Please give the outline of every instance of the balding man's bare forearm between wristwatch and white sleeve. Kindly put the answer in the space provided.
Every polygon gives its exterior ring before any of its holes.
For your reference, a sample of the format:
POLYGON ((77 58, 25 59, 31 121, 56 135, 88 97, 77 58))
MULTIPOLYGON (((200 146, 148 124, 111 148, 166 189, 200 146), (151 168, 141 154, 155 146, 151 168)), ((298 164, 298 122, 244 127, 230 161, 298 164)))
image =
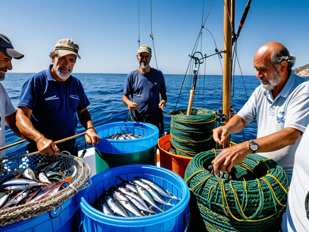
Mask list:
MULTIPOLYGON (((267 135, 265 137, 254 139, 252 141, 258 144, 259 146, 259 149, 257 150, 258 153, 273 152, 280 150, 281 148, 285 148, 286 146, 295 144, 300 133, 301 133, 300 131, 294 128, 287 127, 284 130, 267 135)), ((245 143, 248 144, 249 148, 249 142, 246 141, 245 143)))

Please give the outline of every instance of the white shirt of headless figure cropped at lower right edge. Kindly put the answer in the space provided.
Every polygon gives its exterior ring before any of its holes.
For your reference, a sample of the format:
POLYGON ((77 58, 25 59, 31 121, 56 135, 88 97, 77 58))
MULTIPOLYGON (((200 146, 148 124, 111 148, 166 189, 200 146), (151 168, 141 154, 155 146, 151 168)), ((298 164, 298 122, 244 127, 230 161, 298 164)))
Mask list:
POLYGON ((307 127, 295 153, 288 203, 282 220, 286 232, 309 231, 309 219, 305 210, 305 198, 309 191, 308 142, 309 128, 307 127))

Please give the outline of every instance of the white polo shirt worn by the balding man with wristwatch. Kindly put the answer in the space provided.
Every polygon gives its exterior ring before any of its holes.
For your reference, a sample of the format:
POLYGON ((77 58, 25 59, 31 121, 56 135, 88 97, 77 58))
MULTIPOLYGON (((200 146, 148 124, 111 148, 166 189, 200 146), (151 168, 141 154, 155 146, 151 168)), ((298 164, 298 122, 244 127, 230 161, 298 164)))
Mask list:
MULTIPOLYGON (((257 138, 281 131, 286 127, 304 132, 309 124, 309 79, 295 75, 291 71, 286 85, 275 99, 270 90, 260 85, 237 115, 247 122, 256 119, 257 138)), ((293 170, 294 154, 301 138, 302 136, 299 136, 294 145, 258 154, 277 161, 284 170, 293 170)))

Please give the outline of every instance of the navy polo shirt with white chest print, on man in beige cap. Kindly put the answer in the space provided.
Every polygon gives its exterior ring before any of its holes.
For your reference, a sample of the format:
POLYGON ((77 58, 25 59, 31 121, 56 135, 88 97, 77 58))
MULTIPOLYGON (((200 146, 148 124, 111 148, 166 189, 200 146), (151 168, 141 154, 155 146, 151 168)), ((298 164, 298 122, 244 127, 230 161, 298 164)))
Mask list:
MULTIPOLYGON (((53 79, 48 69, 31 75, 23 84, 18 106, 32 110, 30 121, 45 138, 61 140, 77 132, 77 110, 90 102, 82 83, 76 77, 63 82, 53 79)), ((73 152, 76 139, 57 144, 60 151, 73 152)))

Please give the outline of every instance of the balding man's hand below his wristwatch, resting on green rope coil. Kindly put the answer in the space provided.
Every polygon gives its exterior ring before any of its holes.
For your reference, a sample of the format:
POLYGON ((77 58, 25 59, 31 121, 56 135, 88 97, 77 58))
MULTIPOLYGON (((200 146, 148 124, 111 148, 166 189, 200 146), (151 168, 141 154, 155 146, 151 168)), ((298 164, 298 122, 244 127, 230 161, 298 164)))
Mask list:
POLYGON ((239 162, 243 161, 248 154, 251 153, 249 149, 249 142, 246 141, 241 144, 222 149, 221 153, 214 159, 214 174, 218 177, 218 172, 231 172, 231 168, 239 162))

